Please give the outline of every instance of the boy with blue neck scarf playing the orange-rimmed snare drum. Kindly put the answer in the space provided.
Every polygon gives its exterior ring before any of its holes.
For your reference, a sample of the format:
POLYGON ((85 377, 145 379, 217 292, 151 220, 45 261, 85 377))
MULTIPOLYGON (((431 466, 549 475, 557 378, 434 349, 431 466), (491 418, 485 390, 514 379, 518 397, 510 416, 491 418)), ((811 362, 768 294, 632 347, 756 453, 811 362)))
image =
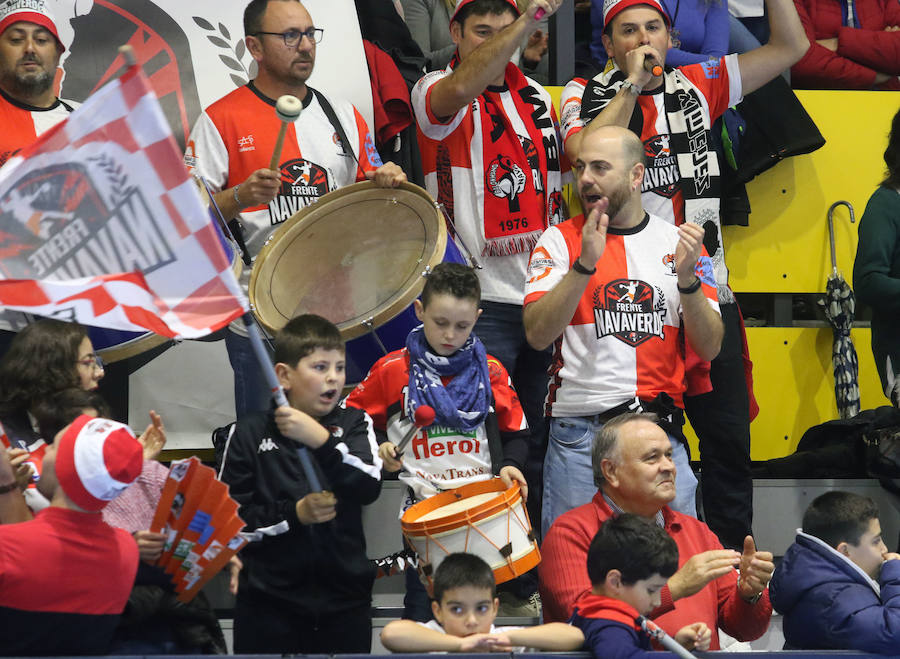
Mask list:
MULTIPOLYGON (((528 494, 522 468, 528 423, 503 365, 472 333, 481 315, 481 286, 472 268, 441 263, 415 301, 422 325, 406 347, 375 362, 347 404, 369 413, 380 442, 378 455, 407 486, 401 514, 428 497, 499 476, 528 494), (397 454, 420 405, 434 408, 434 423, 419 430, 397 454)), ((407 575, 404 618, 431 617, 415 571, 407 575)))

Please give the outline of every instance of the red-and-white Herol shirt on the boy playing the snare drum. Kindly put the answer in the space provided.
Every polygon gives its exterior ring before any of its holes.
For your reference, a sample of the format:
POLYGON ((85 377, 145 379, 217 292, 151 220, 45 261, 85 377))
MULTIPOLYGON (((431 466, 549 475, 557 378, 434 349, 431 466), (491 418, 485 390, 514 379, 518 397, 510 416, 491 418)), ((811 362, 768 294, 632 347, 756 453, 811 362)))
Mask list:
MULTIPOLYGON (((496 415, 501 435, 527 433, 528 423, 509 374, 494 357, 488 355, 487 362, 493 395, 490 413, 496 415)), ((444 384, 450 379, 445 378, 444 384)), ((396 445, 412 427, 403 413, 408 389, 409 353, 402 348, 375 362, 366 379, 350 393, 347 404, 368 412, 375 428, 396 445)), ((403 464, 400 481, 413 494, 404 510, 438 492, 492 478, 485 424, 468 432, 444 426, 424 428, 406 445, 403 464)))

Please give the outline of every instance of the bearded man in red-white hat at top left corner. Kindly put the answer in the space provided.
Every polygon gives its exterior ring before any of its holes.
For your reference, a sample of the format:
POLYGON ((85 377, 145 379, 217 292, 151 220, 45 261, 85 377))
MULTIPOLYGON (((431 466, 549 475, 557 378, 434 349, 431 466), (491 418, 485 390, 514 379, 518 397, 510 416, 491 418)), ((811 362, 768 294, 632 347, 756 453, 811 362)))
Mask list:
POLYGON ((46 0, 0 3, 0 165, 77 107, 54 90, 65 50, 46 0))

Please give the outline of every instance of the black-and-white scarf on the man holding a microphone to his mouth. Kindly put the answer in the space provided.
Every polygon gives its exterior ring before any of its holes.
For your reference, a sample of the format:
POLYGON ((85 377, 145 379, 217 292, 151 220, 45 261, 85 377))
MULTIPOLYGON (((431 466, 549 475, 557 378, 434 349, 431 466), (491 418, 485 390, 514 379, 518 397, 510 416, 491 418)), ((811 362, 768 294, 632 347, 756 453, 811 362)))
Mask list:
MULTIPOLYGON (((719 158, 710 141, 709 112, 704 109, 697 90, 680 71, 667 70, 664 80, 663 107, 669 123, 669 146, 677 159, 681 177, 678 185, 684 199, 684 221, 704 229, 707 223, 712 223, 719 244, 707 251, 713 262, 719 302, 734 302, 734 294, 728 288, 728 269, 722 248, 719 158)), ((595 117, 613 99, 623 82, 625 73, 615 65, 590 80, 581 101, 582 118, 595 117)), ((635 104, 629 128, 640 135, 642 124, 643 113, 635 104)))

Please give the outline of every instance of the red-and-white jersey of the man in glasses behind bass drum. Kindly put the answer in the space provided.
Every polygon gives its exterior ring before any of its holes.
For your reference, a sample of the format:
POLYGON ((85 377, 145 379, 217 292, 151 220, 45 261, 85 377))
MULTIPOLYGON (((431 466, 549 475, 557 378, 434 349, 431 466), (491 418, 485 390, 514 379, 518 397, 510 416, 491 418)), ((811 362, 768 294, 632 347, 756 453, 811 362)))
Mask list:
MULTIPOLYGON (((326 193, 365 180, 356 161, 345 155, 341 141, 312 90, 301 99, 303 111, 288 124, 281 152, 281 191, 266 206, 240 213, 244 239, 255 258, 277 225, 326 193)), ((364 171, 379 167, 381 159, 362 115, 346 101, 328 99, 364 171)), ((210 105, 197 119, 185 150, 185 164, 203 176, 214 192, 242 183, 257 169, 268 167, 281 120, 275 100, 253 83, 238 87, 210 105)), ((241 283, 246 290, 250 269, 241 283)), ((232 325, 235 327, 235 325, 232 325)))

